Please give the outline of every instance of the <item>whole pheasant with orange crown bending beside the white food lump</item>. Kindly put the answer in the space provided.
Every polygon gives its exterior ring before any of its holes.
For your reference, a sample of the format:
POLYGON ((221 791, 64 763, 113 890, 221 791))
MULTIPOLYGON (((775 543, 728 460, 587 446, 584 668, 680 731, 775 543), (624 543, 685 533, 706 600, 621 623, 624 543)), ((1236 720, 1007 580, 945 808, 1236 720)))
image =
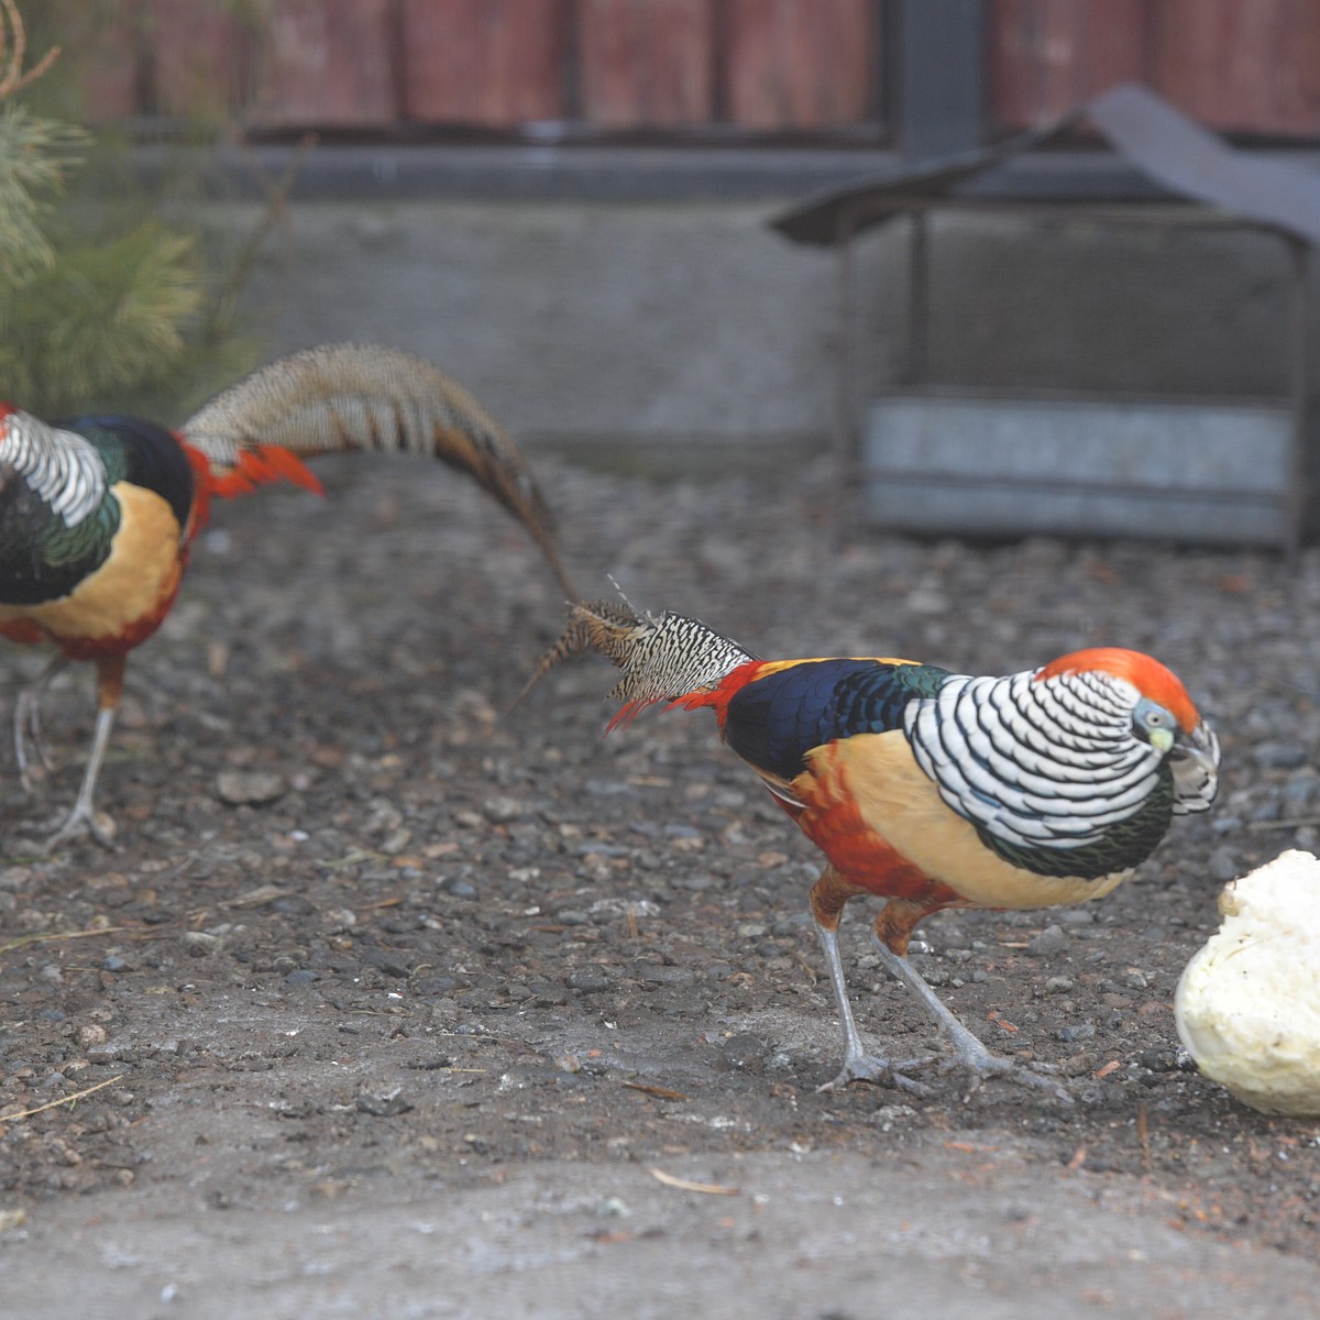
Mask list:
POLYGON ((610 729, 652 702, 709 708, 723 741, 825 854, 810 912, 854 1080, 916 1093, 925 1060, 869 1055, 849 1005, 838 925, 850 898, 886 899, 884 968, 977 1078, 1008 1076, 1068 1100, 1051 1078, 993 1053, 908 961, 917 924, 944 908, 1038 908, 1102 898, 1173 816, 1203 812, 1218 742, 1158 660, 1100 647, 1039 669, 972 677, 911 660, 760 660, 696 619, 627 602, 572 607, 528 686, 597 649, 623 671, 610 729))

